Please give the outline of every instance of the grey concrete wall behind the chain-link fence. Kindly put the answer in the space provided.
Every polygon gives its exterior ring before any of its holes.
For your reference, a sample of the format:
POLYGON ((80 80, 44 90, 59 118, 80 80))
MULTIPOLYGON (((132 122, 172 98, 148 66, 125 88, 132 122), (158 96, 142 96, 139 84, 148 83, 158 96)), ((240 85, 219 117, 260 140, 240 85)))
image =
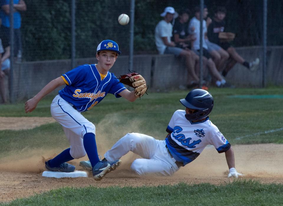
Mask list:
MULTIPOLYGON (((238 87, 262 86, 262 48, 236 48, 247 61, 260 58, 259 70, 250 72, 244 66, 236 66, 228 73, 226 80, 238 87)), ((283 86, 283 46, 268 47, 266 80, 268 85, 283 86)), ((76 65, 97 63, 96 58, 77 59, 76 65)), ((111 72, 117 77, 128 73, 128 56, 118 57, 111 72)), ((13 99, 33 97, 47 83, 71 69, 70 60, 35 61, 16 64, 13 72, 13 99)), ((189 83, 184 59, 173 55, 134 56, 134 71, 140 73, 149 84, 149 91, 169 91, 184 88, 189 83)), ((61 89, 61 88, 59 88, 61 89)), ((58 89, 58 90, 59 90, 58 89)), ((53 93, 57 93, 57 91, 53 93)))

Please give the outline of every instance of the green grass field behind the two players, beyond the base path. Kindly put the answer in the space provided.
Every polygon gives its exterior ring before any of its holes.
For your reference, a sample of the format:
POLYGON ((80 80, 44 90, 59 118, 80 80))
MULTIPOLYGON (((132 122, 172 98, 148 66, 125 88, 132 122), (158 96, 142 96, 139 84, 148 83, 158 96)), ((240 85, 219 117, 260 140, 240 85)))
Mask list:
MULTIPOLYGON (((232 95, 282 94, 282 88, 210 89, 215 105, 210 120, 219 128, 231 144, 283 143, 282 131, 265 133, 282 128, 283 99, 230 98, 232 95), (243 137, 249 135, 248 137, 243 137)), ((150 93, 134 103, 124 98, 108 95, 93 109, 83 115, 96 125, 97 136, 107 135, 108 143, 115 143, 127 132, 139 132, 164 139, 165 129, 175 110, 184 109, 179 99, 186 91, 150 93), (108 134, 108 131, 112 133, 108 134)), ((37 116, 51 117, 47 96, 32 113, 24 113, 24 102, 0 105, 3 117, 37 116)), ((23 122, 24 124, 24 122, 23 122)), ((12 131, 0 131, 0 158, 9 151, 29 148, 65 148, 68 142, 58 123, 12 131)), ((111 145, 109 145, 111 146, 111 145)))

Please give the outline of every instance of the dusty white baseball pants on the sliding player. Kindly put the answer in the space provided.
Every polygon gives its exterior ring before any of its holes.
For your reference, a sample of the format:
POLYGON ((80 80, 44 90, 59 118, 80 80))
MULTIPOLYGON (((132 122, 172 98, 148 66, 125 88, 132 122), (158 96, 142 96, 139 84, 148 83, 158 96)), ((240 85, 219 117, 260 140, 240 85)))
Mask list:
POLYGON ((114 161, 132 151, 143 158, 136 159, 131 164, 131 169, 136 174, 168 176, 174 174, 179 168, 175 163, 176 160, 171 158, 165 146, 165 140, 156 140, 151 136, 139 133, 128 133, 116 142, 104 154, 104 157, 108 161, 114 161))

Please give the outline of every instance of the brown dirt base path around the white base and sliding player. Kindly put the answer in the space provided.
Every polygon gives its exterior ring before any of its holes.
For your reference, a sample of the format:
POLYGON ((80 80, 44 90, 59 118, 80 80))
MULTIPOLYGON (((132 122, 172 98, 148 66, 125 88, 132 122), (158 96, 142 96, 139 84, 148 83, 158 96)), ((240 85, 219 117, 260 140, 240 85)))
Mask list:
MULTIPOLYGON (((233 149, 236 157, 236 169, 245 174, 244 178, 258 180, 262 183, 283 184, 283 145, 234 145, 233 149)), ((206 182, 218 185, 233 181, 233 179, 227 178, 228 168, 225 155, 223 153, 218 154, 213 147, 205 148, 195 161, 181 168, 171 177, 137 176, 130 171, 130 163, 137 156, 129 153, 122 158, 121 166, 108 173, 101 181, 95 181, 91 174, 88 178, 56 179, 42 177, 45 159, 41 155, 53 153, 51 151, 45 151, 45 153, 33 151, 33 153, 32 157, 24 160, 14 161, 15 158, 13 157, 1 160, 0 202, 8 202, 16 198, 28 197, 34 195, 34 193, 42 193, 65 186, 86 187, 93 185, 107 187, 117 185, 137 187, 142 185, 172 185, 179 182, 189 184, 206 182)), ((78 165, 80 160, 71 161, 78 170, 81 170, 78 165)))

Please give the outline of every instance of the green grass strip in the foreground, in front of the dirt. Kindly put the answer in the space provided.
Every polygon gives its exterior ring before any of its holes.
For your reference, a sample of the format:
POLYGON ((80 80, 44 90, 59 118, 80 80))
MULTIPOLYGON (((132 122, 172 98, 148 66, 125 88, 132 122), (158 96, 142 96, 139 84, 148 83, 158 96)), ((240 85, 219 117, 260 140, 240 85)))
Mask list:
POLYGON ((282 205, 283 185, 237 180, 157 187, 64 187, 0 205, 282 205))

